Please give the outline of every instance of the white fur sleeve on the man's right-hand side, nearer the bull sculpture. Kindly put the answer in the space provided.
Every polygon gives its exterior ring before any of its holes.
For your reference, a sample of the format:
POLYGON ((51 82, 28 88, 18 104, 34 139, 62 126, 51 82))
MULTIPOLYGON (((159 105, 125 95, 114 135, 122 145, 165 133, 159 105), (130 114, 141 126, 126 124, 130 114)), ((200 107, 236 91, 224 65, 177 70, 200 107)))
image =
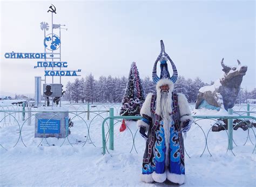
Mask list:
POLYGON ((178 105, 180 112, 180 122, 183 124, 184 121, 190 120, 193 121, 191 116, 190 106, 188 105, 187 98, 183 93, 178 93, 178 105))

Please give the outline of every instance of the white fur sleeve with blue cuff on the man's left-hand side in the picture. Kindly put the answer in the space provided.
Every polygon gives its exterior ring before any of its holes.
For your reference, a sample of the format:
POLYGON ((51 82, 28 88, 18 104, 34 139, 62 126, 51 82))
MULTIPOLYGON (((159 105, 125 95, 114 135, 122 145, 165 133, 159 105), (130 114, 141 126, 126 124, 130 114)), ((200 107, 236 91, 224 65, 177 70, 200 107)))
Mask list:
POLYGON ((142 109, 140 109, 140 116, 142 116, 142 119, 137 121, 137 126, 144 127, 146 132, 149 130, 149 126, 152 122, 152 117, 151 117, 152 95, 153 95, 153 93, 147 94, 145 102, 142 105, 142 109))

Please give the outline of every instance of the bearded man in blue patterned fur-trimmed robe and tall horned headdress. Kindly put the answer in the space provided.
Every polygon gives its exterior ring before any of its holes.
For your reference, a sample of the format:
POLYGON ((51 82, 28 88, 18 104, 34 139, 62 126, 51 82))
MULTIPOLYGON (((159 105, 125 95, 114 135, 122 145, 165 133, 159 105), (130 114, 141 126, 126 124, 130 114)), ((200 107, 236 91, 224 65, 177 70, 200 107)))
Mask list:
POLYGON ((166 179, 178 184, 185 182, 182 132, 190 130, 193 117, 185 95, 173 93, 177 77, 176 66, 165 53, 161 40, 161 52, 154 63, 152 73, 153 81, 157 84, 157 92, 147 95, 140 110, 143 118, 137 123, 140 134, 146 139, 140 176, 146 183, 163 183, 166 179), (172 77, 167 67, 168 60, 172 64, 172 77), (157 76, 158 61, 161 69, 160 78, 157 76))

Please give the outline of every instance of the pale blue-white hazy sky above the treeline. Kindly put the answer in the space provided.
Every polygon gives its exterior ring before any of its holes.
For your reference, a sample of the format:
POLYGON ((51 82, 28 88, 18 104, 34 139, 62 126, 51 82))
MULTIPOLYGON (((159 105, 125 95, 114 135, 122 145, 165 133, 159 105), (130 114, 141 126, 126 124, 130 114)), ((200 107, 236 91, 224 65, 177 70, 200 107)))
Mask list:
MULTIPOLYGON (((51 4, 53 23, 68 28, 61 33, 62 61, 84 77, 127 76, 133 61, 141 78, 151 77, 163 39, 179 75, 210 83, 222 75, 223 57, 229 66, 239 59, 248 66, 241 88, 255 88, 254 1, 1 1, 0 94, 32 96, 34 77, 44 78, 43 68, 33 69, 37 59, 4 54, 44 52, 40 23, 51 25, 51 4)), ((63 77, 62 83, 73 80, 63 77)))

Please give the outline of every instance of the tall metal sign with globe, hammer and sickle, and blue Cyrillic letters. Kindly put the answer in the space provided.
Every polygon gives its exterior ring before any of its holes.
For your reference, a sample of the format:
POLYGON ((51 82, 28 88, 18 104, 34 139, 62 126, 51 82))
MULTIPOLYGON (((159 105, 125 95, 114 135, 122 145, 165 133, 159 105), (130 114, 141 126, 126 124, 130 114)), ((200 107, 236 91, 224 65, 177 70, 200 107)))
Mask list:
MULTIPOLYGON (((51 4, 49 6, 49 10, 47 12, 51 12, 51 33, 46 35, 46 31, 49 30, 50 25, 45 21, 40 23, 40 28, 44 31, 44 52, 43 53, 15 53, 12 51, 11 53, 5 53, 4 56, 6 59, 44 59, 44 61, 38 61, 34 68, 44 68, 44 80, 39 78, 39 76, 35 77, 35 106, 41 102, 41 81, 44 81, 46 84, 46 77, 52 77, 53 88, 55 88, 53 78, 59 76, 59 84, 56 88, 60 87, 60 92, 58 94, 45 95, 45 104, 46 97, 52 97, 52 106, 53 106, 53 97, 62 97, 62 76, 80 76, 77 73, 81 72, 81 69, 78 70, 62 70, 62 68, 68 68, 68 62, 62 61, 61 58, 61 30, 68 30, 68 28, 64 28, 61 24, 53 24, 53 13, 57 14, 56 7, 51 4), (53 30, 58 29, 58 35, 53 33, 53 30), (47 68, 47 69, 46 69, 47 68), (58 68, 57 70, 54 68, 58 68), (40 99, 40 100, 39 100, 40 99)), ((45 89, 45 87, 44 87, 45 89)), ((45 90, 44 90, 45 91, 45 90)), ((61 100, 59 102, 59 106, 61 106, 61 100)))

